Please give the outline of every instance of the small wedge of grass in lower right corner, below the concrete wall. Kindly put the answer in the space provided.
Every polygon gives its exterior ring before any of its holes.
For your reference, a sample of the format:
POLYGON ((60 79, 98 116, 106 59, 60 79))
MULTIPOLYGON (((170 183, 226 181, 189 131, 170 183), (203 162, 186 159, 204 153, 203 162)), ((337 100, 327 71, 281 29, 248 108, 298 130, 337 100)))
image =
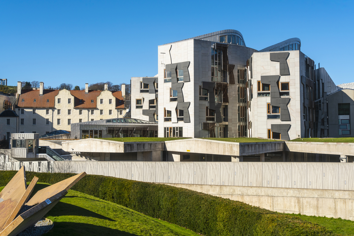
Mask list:
POLYGON ((310 221, 312 223, 317 223, 319 225, 325 226, 327 229, 333 230, 336 234, 354 236, 354 221, 343 220, 343 219, 334 219, 327 217, 317 217, 317 216, 307 216, 301 214, 289 214, 296 215, 303 220, 310 221))

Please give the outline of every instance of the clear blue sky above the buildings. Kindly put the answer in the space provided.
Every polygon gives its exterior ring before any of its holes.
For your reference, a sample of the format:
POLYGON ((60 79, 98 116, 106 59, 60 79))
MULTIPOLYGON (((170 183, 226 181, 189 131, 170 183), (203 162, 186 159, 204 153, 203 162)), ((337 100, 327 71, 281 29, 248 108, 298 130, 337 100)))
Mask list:
POLYGON ((2 1, 0 78, 70 83, 154 76, 157 46, 223 29, 261 50, 301 39, 336 84, 354 82, 354 1, 2 1))

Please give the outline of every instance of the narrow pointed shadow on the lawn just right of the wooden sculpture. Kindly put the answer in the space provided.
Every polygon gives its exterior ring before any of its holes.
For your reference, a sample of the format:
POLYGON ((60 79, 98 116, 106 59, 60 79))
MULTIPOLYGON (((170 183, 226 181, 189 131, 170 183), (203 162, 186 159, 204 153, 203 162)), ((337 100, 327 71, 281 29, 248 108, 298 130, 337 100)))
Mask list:
POLYGON ((58 202, 57 205, 55 205, 53 209, 47 213, 47 215, 50 216, 77 215, 77 216, 93 217, 93 218, 98 218, 103 220, 115 221, 101 214, 97 214, 96 212, 92 212, 88 209, 78 207, 65 202, 58 202))

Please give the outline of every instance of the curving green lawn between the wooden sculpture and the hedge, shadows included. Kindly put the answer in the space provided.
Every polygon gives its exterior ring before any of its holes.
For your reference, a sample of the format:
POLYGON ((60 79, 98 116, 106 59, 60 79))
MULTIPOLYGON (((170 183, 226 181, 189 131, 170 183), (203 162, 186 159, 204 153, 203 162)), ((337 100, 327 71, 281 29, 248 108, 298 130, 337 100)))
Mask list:
MULTIPOLYGON (((29 184, 29 182, 27 183, 29 184)), ((37 183, 33 194, 48 186, 37 183)), ((0 187, 0 191, 4 187, 0 187)), ((32 194, 32 195, 33 195, 32 194)), ((166 221, 154 219, 132 209, 100 198, 69 190, 45 216, 54 222, 46 235, 182 235, 195 232, 166 221)))

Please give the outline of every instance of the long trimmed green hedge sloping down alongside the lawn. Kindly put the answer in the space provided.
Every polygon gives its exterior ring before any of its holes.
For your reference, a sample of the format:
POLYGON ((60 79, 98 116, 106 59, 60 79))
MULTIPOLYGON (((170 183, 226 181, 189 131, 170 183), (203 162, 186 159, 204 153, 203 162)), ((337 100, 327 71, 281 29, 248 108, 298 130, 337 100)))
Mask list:
MULTIPOLYGON (((16 171, 0 171, 0 186, 16 171)), ((27 172, 27 181, 55 184, 75 174, 27 172)), ((330 236, 331 230, 298 217, 272 212, 239 201, 164 184, 86 175, 72 188, 142 212, 154 218, 183 226, 207 236, 330 236)))

